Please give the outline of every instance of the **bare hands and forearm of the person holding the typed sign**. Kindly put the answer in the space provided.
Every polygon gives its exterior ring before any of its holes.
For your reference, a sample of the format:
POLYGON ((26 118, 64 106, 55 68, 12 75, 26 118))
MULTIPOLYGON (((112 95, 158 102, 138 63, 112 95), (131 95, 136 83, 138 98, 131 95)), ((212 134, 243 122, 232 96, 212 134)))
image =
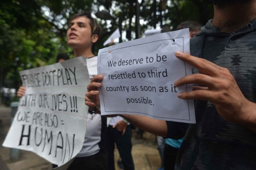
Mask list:
MULTIPOLYGON (((198 84, 208 87, 195 86, 192 92, 179 93, 178 97, 180 99, 208 100, 215 105, 223 119, 241 124, 256 132, 256 104, 245 98, 227 68, 219 67, 208 60, 193 57, 182 52, 176 52, 175 55, 178 59, 187 62, 202 73, 185 76, 176 81, 174 83, 175 86, 198 84)), ((91 100, 97 106, 100 106, 97 88, 101 87, 99 82, 102 79, 102 75, 95 76, 87 87, 86 99, 91 100)), ((90 102, 86 101, 86 104, 89 105, 90 102)), ((158 136, 167 136, 167 125, 164 120, 156 120, 138 115, 121 116, 145 131, 158 136)), ((168 137, 172 137, 169 136, 169 132, 168 137)))

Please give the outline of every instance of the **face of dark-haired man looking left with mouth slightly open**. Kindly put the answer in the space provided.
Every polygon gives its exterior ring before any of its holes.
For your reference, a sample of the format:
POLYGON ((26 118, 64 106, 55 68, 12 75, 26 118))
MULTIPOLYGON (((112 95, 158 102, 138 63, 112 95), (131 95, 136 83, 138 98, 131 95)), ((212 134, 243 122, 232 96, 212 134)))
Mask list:
POLYGON ((87 17, 74 18, 67 30, 67 44, 72 48, 91 47, 91 26, 87 17))

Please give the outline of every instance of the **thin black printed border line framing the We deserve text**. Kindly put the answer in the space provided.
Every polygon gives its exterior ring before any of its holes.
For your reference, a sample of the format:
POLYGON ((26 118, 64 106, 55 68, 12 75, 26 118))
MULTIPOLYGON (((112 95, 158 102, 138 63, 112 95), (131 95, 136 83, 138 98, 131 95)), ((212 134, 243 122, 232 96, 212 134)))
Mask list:
MULTIPOLYGON (((179 37, 179 38, 182 38, 183 39, 183 52, 184 52, 184 37, 179 37)), ((171 38, 171 39, 165 39, 165 40, 175 40, 175 39, 179 39, 179 38, 171 38)), ((165 40, 157 40, 157 41, 153 41, 153 42, 159 42, 159 41, 165 41, 165 40)), ((142 45, 142 44, 147 44, 147 43, 152 43, 152 42, 146 42, 146 43, 141 43, 141 44, 137 44, 137 45, 142 45)), ((128 46, 128 47, 133 47, 133 46, 137 46, 137 45, 131 45, 131 46, 128 46)), ((128 47, 122 47, 122 48, 118 48, 118 49, 113 49, 111 51, 114 51, 114 50, 119 50, 119 49, 123 49, 123 48, 128 48, 128 47)), ((104 52, 109 52, 109 51, 103 51, 101 53, 104 53, 104 52)), ((184 62, 184 66, 185 66, 185 74, 187 76, 187 69, 186 69, 186 63, 184 62)), ((99 70, 100 74, 101 74, 101 55, 100 55, 100 70, 99 70)), ((186 91, 188 91, 188 85, 186 85, 186 91)), ((150 114, 147 114, 147 113, 141 113, 141 112, 135 112, 135 111, 106 111, 106 107, 105 107, 105 102, 104 102, 104 96, 103 96, 103 93, 102 93, 102 89, 101 89, 101 94, 102 94, 102 98, 103 98, 103 103, 104 103, 104 108, 105 108, 105 112, 128 112, 128 113, 140 113, 140 114, 146 114, 146 115, 149 115, 149 116, 152 116, 150 114)), ((188 102, 188 110, 189 110, 189 101, 187 100, 188 102)), ((158 116, 152 116, 152 117, 155 117, 155 118, 165 118, 165 117, 158 117, 158 116)), ((165 119, 175 119, 175 118, 165 118, 165 119)), ((190 120, 190 110, 189 110, 189 119, 178 119, 178 120, 190 120)))

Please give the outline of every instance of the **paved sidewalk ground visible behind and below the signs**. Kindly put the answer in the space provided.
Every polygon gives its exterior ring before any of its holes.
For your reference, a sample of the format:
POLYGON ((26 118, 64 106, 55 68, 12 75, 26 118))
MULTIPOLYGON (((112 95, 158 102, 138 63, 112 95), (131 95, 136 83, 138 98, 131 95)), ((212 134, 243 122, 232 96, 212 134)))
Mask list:
MULTIPOLYGON (((9 107, 0 105, 0 170, 52 170, 51 163, 32 152, 21 151, 20 159, 10 160, 10 149, 2 146, 10 127, 10 112, 9 107)), ((134 131, 133 134, 135 134, 134 131)), ((154 135, 144 133, 143 139, 133 137, 132 144, 135 170, 157 170, 160 167, 160 156, 154 135)), ((116 170, 119 170, 118 159, 119 153, 115 149, 116 170)))

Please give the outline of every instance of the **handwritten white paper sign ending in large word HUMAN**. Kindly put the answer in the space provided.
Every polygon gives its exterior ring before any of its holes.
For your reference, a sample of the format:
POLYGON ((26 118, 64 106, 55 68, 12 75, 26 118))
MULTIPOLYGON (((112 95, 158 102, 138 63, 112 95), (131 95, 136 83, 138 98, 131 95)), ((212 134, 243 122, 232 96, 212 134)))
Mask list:
POLYGON ((3 146, 37 153, 61 166, 82 149, 90 83, 85 57, 20 71, 26 94, 3 146))

